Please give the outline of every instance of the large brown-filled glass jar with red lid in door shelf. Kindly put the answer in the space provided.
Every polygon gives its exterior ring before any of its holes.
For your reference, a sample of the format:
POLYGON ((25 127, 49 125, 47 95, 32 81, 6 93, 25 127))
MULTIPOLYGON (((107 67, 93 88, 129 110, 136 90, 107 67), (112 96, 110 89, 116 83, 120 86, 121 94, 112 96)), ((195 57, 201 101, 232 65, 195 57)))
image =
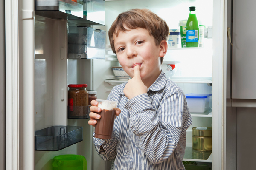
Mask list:
POLYGON ((70 84, 68 87, 68 118, 88 118, 87 84, 70 84))

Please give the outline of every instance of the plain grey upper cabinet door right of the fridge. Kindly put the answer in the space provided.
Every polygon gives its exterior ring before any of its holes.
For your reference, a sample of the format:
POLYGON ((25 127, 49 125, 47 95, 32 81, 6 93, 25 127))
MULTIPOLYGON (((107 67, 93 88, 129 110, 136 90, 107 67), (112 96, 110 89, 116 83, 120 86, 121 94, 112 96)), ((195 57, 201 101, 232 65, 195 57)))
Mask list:
POLYGON ((232 98, 256 99, 255 0, 233 1, 232 98), (246 9, 246 10, 245 10, 246 9))

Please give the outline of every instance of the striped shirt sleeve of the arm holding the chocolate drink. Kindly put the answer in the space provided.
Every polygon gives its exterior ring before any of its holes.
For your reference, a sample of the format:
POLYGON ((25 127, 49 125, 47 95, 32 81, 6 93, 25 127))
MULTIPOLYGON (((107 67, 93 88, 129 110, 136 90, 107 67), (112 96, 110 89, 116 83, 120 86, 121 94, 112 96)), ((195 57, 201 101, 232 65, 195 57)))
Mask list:
MULTIPOLYGON (((108 95, 107 100, 113 100, 112 94, 113 93, 111 91, 111 93, 108 95)), ((93 133, 93 143, 98 155, 104 161, 112 161, 116 157, 117 139, 115 135, 115 130, 113 130, 113 135, 111 136, 111 139, 99 139, 94 137, 93 133)))

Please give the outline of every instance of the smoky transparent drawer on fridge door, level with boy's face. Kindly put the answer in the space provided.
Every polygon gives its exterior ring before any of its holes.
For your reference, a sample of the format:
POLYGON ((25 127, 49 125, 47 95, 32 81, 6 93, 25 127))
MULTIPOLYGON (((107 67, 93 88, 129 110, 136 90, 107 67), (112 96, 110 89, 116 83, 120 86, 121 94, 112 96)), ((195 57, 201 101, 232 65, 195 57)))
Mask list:
POLYGON ((68 58, 105 59, 106 31, 90 27, 70 26, 68 58))

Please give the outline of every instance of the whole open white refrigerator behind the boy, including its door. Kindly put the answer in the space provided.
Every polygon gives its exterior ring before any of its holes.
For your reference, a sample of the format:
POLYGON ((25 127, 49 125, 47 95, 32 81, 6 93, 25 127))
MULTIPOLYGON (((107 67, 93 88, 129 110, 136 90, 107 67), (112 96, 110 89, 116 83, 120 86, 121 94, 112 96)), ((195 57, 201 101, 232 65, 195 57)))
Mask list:
POLYGON ((180 29, 179 20, 188 18, 189 6, 196 6, 197 17, 207 28, 204 47, 168 48, 161 67, 166 71, 167 65, 177 64, 169 78, 185 94, 212 94, 206 112, 192 113, 184 161, 207 164, 212 169, 226 168, 227 0, 87 0, 87 19, 67 9, 70 5, 81 8, 79 3, 57 3, 58 9, 50 11, 36 10, 35 0, 6 0, 4 4, 6 169, 51 169, 53 157, 63 154, 83 155, 87 169, 110 169, 111 162, 103 161, 93 146, 94 128, 88 125, 89 119, 67 119, 67 85, 87 84, 87 89, 97 91, 98 99, 107 99, 111 89, 123 82, 111 69, 120 65, 108 40, 108 29, 117 15, 131 8, 148 8, 166 20, 170 29, 180 29), (102 2, 103 11, 97 5, 102 2), (64 3, 66 10, 58 13, 64 3), (105 58, 69 58, 70 26, 106 31, 105 58), (35 150, 35 131, 60 125, 83 127, 83 140, 58 151, 35 150), (212 127, 212 152, 195 157, 192 127, 201 126, 212 127))

